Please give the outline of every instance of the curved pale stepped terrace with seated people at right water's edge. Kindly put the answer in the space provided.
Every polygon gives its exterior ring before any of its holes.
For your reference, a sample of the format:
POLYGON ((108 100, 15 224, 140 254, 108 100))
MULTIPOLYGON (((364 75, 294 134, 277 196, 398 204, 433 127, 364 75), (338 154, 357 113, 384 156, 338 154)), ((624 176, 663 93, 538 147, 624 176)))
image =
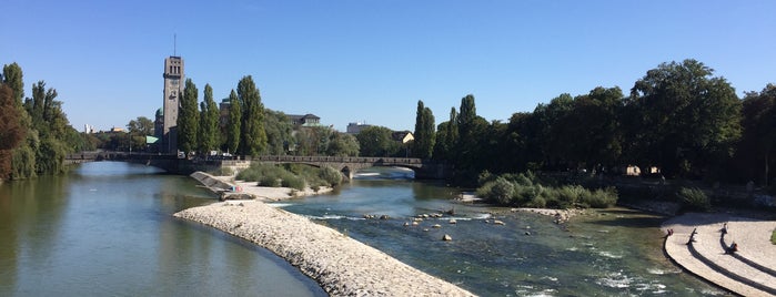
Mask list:
POLYGON ((776 295, 776 245, 770 243, 776 221, 685 214, 668 219, 662 228, 674 232, 665 240, 666 254, 689 273, 743 296, 776 295), (687 244, 693 231, 694 242, 687 244), (733 242, 738 252, 726 254, 725 247, 733 242))

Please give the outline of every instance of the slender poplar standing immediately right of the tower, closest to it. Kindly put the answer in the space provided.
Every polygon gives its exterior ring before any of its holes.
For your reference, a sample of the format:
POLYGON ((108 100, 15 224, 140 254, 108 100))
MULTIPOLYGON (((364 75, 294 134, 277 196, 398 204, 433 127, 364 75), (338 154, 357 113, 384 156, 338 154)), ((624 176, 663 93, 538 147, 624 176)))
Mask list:
POLYGON ((200 112, 198 109, 196 85, 191 79, 185 80, 181 106, 178 111, 178 150, 184 153, 193 152, 198 147, 196 134, 199 130, 200 112))

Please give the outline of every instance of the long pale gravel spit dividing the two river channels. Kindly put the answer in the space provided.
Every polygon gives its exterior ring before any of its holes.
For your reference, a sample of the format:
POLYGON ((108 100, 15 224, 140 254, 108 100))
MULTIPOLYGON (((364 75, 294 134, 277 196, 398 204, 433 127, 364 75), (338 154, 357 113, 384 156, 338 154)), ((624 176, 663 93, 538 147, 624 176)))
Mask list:
MULTIPOLYGON (((272 201, 291 197, 275 188, 245 185, 243 191, 272 201)), ((272 250, 332 296, 474 296, 334 229, 259 199, 214 203, 174 216, 272 250)))

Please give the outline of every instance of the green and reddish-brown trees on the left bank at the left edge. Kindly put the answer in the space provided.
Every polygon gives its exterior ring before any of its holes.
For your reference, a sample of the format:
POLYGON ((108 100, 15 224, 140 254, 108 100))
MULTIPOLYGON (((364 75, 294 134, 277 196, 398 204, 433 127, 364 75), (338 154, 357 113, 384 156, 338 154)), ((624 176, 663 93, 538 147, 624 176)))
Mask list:
POLYGON ((0 180, 21 180, 64 172, 68 153, 83 147, 83 139, 68 121, 57 90, 44 81, 24 96, 21 68, 2 68, 0 84, 0 180))

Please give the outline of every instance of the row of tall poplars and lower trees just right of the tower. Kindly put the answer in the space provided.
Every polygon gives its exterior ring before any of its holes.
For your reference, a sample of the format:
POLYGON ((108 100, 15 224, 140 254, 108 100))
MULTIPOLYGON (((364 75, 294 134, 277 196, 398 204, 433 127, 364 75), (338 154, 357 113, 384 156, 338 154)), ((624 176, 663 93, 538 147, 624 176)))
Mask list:
MULTIPOLYGON (((259 155, 333 155, 355 156, 359 142, 353 135, 329 126, 295 127, 288 115, 264 107, 261 94, 251 75, 243 76, 231 90, 221 111, 213 100, 213 90, 205 84, 202 102, 199 90, 187 79, 178 116, 178 145, 182 152, 208 155, 211 151, 229 152, 241 156, 259 155), (225 113, 224 119, 221 114, 225 113)), ((130 122, 148 122, 138 117, 130 122)), ((142 125, 140 125, 142 126, 142 125)), ((142 131, 137 131, 142 133, 142 131)))

